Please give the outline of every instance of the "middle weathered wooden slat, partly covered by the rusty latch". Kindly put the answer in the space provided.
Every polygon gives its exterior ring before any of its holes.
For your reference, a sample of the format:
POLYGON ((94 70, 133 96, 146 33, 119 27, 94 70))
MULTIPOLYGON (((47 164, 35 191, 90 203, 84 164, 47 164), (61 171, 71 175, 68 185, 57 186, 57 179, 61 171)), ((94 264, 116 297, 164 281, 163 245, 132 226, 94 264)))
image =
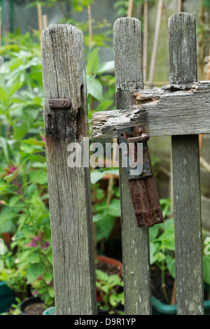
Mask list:
MULTIPOLYGON (((120 18, 114 24, 116 106, 134 101, 135 87, 144 88, 141 23, 120 18)), ((151 272, 148 228, 137 228, 125 168, 120 165, 121 225, 125 314, 151 314, 151 272)))

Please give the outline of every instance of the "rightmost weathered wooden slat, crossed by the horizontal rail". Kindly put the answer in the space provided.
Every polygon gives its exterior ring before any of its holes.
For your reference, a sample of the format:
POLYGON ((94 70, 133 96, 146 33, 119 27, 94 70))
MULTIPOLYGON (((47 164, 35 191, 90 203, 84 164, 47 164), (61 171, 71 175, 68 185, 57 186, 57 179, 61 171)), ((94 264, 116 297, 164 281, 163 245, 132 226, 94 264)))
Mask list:
MULTIPOLYGON (((169 18, 170 83, 197 80, 196 22, 169 18)), ((189 109, 190 111, 190 109, 189 109)), ((172 137, 177 314, 204 314, 199 137, 172 137)))

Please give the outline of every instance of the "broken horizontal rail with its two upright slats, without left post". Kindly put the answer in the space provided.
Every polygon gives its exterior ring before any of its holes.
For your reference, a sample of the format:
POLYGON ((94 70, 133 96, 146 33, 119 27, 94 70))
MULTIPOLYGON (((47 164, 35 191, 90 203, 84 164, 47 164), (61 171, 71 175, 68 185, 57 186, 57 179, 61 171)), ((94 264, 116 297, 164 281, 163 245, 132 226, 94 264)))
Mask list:
MULTIPOLYGON (((188 13, 176 13, 169 19, 171 84, 158 90, 143 90, 139 73, 141 52, 139 54, 137 51, 139 28, 139 22, 132 18, 116 21, 118 109, 92 115, 92 137, 114 138, 118 136, 118 131, 139 125, 144 125, 149 136, 172 136, 177 313, 204 314, 197 135, 210 133, 210 81, 196 82, 195 18, 188 13), (132 30, 137 34, 137 40, 132 30)), ((137 228, 123 168, 120 168, 120 186, 125 311, 127 314, 148 314, 151 293, 148 228, 137 228)), ((141 195, 140 191, 139 197, 141 195)))

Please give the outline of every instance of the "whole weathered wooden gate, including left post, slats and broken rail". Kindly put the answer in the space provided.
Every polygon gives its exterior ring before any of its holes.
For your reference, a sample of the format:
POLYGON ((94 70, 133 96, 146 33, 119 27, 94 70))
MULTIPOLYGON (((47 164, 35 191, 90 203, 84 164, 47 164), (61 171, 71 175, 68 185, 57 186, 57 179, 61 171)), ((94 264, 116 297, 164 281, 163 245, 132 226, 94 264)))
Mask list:
MULTIPOLYGON (((139 124, 149 136, 172 136, 177 314, 204 314, 198 134, 210 132, 210 84, 196 82, 195 29, 189 13, 169 18, 170 85, 144 90, 141 23, 116 20, 116 110, 92 116, 94 138, 139 124)), ((97 314, 82 32, 71 25, 43 30, 42 61, 56 313, 97 314), (71 168, 75 142, 82 162, 71 168)), ((125 314, 152 314, 149 228, 137 227, 122 163, 120 195, 125 314)))

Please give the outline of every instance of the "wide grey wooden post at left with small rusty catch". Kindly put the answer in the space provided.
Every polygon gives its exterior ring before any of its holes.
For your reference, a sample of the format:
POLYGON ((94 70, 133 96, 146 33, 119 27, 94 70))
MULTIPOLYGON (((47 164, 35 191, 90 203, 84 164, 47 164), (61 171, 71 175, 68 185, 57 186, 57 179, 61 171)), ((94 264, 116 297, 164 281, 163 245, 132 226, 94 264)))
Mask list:
POLYGON ((56 314, 97 314, 90 169, 69 167, 67 151, 72 142, 83 150, 88 137, 82 32, 71 25, 43 30, 42 64, 56 314), (51 109, 51 98, 72 106, 51 109))

